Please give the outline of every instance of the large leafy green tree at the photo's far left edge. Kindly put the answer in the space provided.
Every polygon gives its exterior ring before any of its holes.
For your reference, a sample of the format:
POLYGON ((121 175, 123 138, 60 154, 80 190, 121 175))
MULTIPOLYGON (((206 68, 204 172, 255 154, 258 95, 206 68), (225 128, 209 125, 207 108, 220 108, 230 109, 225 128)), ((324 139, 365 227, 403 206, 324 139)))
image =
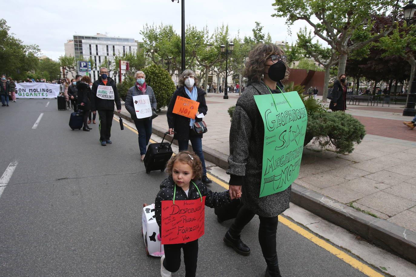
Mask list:
POLYGON ((37 45, 25 45, 9 33, 10 27, 0 19, 0 64, 2 73, 12 78, 26 78, 27 72, 36 68, 40 49, 37 45))

